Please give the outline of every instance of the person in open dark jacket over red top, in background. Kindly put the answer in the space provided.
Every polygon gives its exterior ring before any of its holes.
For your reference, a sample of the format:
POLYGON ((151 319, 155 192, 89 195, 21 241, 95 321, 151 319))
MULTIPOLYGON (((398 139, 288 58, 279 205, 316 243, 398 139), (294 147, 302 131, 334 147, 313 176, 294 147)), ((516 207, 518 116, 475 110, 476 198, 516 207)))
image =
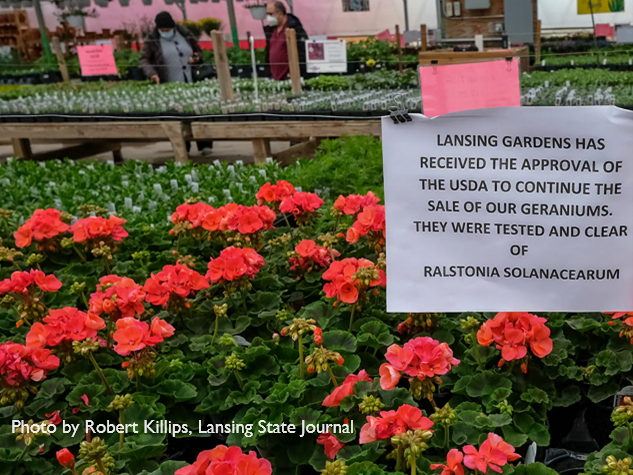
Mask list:
POLYGON ((286 28, 293 28, 297 36, 297 51, 301 75, 305 76, 306 50, 305 41, 308 34, 303 29, 299 19, 288 13, 286 5, 274 1, 266 5, 266 63, 270 64, 270 73, 278 81, 288 79, 290 67, 288 65, 288 47, 286 45, 286 28))

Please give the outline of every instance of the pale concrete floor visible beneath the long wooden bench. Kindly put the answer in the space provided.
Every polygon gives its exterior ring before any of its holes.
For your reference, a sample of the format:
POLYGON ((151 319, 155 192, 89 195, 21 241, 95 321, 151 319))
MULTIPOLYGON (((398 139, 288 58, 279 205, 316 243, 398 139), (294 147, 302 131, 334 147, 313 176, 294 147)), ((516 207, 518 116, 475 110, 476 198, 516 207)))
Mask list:
MULTIPOLYGON (((71 145, 71 144, 67 144, 71 145)), ((62 148, 64 144, 58 143, 34 143, 33 153, 47 152, 62 148)), ((271 151, 280 152, 290 146, 289 142, 272 142, 271 151)), ((169 142, 152 143, 123 143, 121 149, 124 160, 144 160, 152 164, 160 165, 174 158, 174 153, 169 142)), ((4 161, 13 155, 13 147, 9 143, 0 143, 0 160, 4 161)), ((195 144, 191 146, 190 158, 195 163, 209 163, 214 160, 226 160, 235 162, 242 160, 244 163, 253 163, 253 145, 250 141, 215 141, 213 153, 201 155, 195 144)), ((88 158, 88 160, 111 160, 112 153, 102 153, 88 158)))

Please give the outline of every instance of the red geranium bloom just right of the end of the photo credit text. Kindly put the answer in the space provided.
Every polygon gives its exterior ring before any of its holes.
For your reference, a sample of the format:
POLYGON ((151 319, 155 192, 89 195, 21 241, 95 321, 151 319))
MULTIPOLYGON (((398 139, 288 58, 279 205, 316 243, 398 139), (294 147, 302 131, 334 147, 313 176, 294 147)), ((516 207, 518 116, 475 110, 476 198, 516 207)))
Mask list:
MULTIPOLYGON (((380 417, 367 416, 367 424, 360 430, 361 444, 375 440, 390 439, 407 430, 430 430, 433 421, 422 415, 422 411, 408 404, 403 404, 397 411, 383 411, 380 417)), ((432 431, 431 431, 432 432, 432 431)))

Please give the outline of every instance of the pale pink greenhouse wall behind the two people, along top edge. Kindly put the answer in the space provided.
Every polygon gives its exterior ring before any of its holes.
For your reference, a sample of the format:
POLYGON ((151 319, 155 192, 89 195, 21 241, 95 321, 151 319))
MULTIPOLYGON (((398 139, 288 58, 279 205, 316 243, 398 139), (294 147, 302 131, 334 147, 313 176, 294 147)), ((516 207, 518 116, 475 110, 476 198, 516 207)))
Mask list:
MULTIPOLYGON (((250 12, 243 7, 243 2, 235 2, 240 38, 246 37, 250 31, 255 38, 263 38, 262 23, 253 20, 250 12)), ((369 12, 344 13, 341 0, 294 0, 295 14, 303 23, 309 35, 354 36, 374 35, 387 28, 394 31, 395 25, 400 24, 404 29, 403 3, 401 0, 370 0, 369 12)), ((49 2, 42 2, 46 24, 54 29, 57 19, 54 16, 55 7, 49 2)), ((176 6, 165 5, 164 0, 154 0, 151 6, 145 6, 141 0, 130 0, 129 7, 121 7, 118 0, 112 0, 107 8, 95 7, 99 18, 88 18, 88 31, 100 31, 101 28, 111 30, 121 29, 123 22, 133 22, 144 15, 153 18, 160 11, 169 11, 176 20, 182 19, 180 10, 176 6)), ((37 21, 32 8, 28 9, 31 25, 35 27, 37 21)), ((226 2, 220 3, 187 3, 187 16, 190 20, 204 17, 220 18, 224 24, 224 33, 230 33, 226 2)), ((409 23, 411 29, 419 29, 421 23, 428 28, 435 28, 437 23, 435 2, 409 1, 409 23)))

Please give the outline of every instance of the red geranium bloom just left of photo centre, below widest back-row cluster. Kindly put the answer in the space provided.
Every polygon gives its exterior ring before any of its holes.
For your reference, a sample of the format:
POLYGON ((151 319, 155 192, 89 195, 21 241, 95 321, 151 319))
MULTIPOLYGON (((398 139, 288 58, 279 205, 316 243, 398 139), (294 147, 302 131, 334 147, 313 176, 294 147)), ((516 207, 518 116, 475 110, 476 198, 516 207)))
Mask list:
POLYGON ((219 257, 211 259, 206 277, 213 283, 252 278, 263 265, 264 258, 257 251, 231 246, 223 249, 219 257))

